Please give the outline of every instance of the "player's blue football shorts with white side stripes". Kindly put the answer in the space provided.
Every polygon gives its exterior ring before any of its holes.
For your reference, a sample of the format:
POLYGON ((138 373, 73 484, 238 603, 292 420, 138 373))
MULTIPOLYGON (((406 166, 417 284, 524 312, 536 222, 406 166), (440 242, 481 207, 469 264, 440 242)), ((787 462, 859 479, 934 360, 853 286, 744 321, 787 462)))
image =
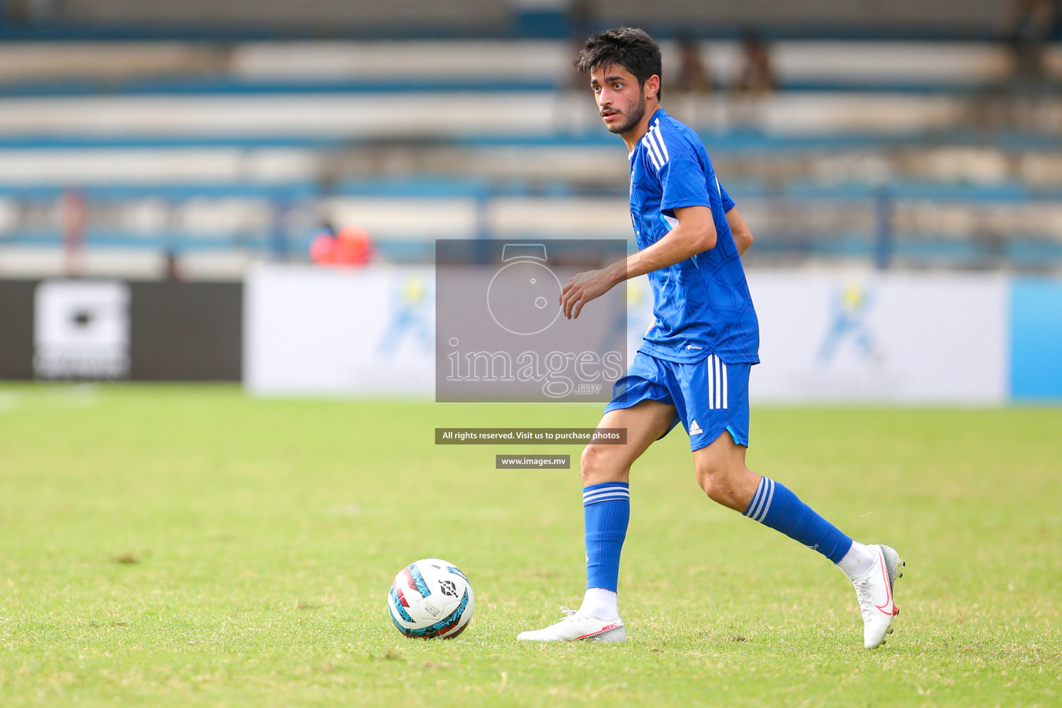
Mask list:
MULTIPOLYGON (((749 447, 749 372, 751 364, 726 364, 716 355, 691 364, 656 359, 639 351, 627 376, 616 381, 605 413, 647 400, 674 405, 667 433, 682 421, 689 449, 700 450, 729 432, 749 447)), ((661 437, 664 437, 661 435, 661 437)))

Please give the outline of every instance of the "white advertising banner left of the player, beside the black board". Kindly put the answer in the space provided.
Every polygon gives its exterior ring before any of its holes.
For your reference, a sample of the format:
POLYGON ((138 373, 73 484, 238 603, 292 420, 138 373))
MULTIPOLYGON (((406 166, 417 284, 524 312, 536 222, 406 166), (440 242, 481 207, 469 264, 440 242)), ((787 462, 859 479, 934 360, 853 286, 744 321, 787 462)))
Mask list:
POLYGON ((244 384, 261 394, 431 395, 431 267, 263 265, 244 294, 244 384))

